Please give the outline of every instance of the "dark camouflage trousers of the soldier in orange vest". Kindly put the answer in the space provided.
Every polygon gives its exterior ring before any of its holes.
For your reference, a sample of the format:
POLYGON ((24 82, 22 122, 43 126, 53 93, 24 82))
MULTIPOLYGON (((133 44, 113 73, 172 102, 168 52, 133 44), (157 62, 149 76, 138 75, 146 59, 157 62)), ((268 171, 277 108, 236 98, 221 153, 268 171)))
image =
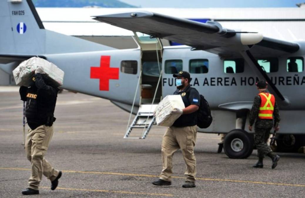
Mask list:
POLYGON ((257 148, 257 157, 264 158, 264 156, 272 152, 267 144, 271 128, 263 129, 255 127, 254 144, 257 148))

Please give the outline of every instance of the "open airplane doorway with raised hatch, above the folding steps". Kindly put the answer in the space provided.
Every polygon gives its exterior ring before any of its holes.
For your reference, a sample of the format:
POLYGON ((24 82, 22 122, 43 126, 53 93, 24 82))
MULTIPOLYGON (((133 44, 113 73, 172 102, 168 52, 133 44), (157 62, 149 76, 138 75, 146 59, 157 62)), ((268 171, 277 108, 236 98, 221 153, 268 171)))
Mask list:
POLYGON ((141 50, 141 104, 159 103, 162 94, 162 43, 159 38, 150 38, 147 34, 134 34, 141 50))

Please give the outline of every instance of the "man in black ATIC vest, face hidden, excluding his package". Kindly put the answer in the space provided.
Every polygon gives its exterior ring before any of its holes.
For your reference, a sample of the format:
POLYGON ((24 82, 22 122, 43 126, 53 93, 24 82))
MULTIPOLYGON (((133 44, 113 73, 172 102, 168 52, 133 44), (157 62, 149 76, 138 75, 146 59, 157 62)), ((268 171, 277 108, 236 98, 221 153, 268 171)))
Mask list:
POLYGON ((25 116, 30 129, 27 132, 25 150, 31 162, 32 173, 24 195, 39 194, 38 187, 42 175, 51 180, 55 190, 62 172, 54 169, 44 158, 53 136, 54 109, 59 89, 46 74, 37 73, 29 87, 20 87, 21 100, 26 101, 25 116))

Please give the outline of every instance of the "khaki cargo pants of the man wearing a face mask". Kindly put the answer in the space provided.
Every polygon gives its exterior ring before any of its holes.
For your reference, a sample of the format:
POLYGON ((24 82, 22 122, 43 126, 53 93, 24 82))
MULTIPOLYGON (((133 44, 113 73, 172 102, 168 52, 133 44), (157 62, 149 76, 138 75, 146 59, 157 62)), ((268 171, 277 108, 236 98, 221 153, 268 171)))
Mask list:
POLYGON ((195 182, 196 158, 194 146, 196 142, 197 126, 167 128, 162 139, 162 165, 163 170, 160 179, 171 180, 173 174, 173 155, 181 149, 186 164, 186 181, 195 182))

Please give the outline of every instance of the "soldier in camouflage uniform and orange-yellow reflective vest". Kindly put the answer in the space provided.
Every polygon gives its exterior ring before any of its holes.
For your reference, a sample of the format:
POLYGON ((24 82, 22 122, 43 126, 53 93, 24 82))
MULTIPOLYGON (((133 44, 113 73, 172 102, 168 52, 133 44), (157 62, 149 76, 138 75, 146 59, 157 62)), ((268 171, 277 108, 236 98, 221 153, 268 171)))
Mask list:
POLYGON ((280 157, 276 154, 274 154, 271 150, 271 148, 268 146, 267 141, 270 135, 270 130, 272 127, 274 130, 278 131, 279 129, 279 122, 280 122, 280 115, 278 112, 278 105, 274 99, 274 96, 272 94, 268 94, 266 92, 267 90, 267 82, 261 80, 257 84, 257 89, 259 90, 260 94, 258 94, 254 98, 253 106, 249 115, 249 130, 252 131, 252 125, 255 122, 255 138, 254 138, 254 144, 257 148, 257 157, 258 162, 253 165, 254 168, 263 168, 263 159, 264 156, 267 155, 272 159, 272 167, 275 168, 277 166, 277 162, 280 159, 280 157), (261 94, 263 93, 263 94, 261 94), (270 96, 267 97, 266 96, 270 96), (266 99, 264 99, 266 97, 266 99), (271 97, 273 98, 273 103, 271 103, 271 97), (264 99, 264 101, 262 101, 264 99), (263 104, 261 104, 263 103, 263 104), (269 107, 267 107, 267 103, 269 104, 269 107), (273 107, 272 107, 273 106, 273 107), (271 107, 271 108, 270 108, 271 107), (273 109, 272 109, 273 108, 273 109), (272 112, 273 110, 273 112, 272 112), (264 114, 264 111, 269 111, 272 114, 264 114), (262 117, 262 116, 270 116, 270 117, 262 117), (274 122, 273 122, 274 119, 274 122))

